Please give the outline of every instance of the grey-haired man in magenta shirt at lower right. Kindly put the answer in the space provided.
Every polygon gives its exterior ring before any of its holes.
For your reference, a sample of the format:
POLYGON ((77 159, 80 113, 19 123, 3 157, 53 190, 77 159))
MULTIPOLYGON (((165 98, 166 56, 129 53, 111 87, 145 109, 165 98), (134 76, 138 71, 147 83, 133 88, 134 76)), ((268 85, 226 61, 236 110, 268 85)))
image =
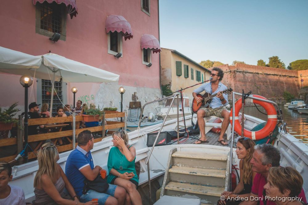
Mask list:
MULTIPOLYGON (((277 148, 270 144, 258 144, 255 146, 253 158, 250 160, 252 171, 257 172, 253 180, 251 193, 248 201, 243 201, 241 205, 253 204, 256 205, 275 205, 273 201, 265 198, 264 185, 267 183, 267 176, 271 167, 279 167, 280 152, 277 148), (256 199, 256 200, 254 200, 256 199)), ((298 195, 302 201, 307 203, 304 190, 298 195)))

